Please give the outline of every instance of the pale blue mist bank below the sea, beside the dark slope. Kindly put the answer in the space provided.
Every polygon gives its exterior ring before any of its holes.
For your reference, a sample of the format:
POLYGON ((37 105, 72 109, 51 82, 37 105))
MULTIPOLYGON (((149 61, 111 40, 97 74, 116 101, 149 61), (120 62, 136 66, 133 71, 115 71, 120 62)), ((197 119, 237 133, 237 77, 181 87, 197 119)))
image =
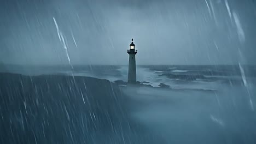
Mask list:
POLYGON ((255 101, 248 98, 255 85, 249 83, 249 89, 214 85, 214 92, 131 88, 125 93, 133 99, 131 117, 164 143, 254 143, 255 101))

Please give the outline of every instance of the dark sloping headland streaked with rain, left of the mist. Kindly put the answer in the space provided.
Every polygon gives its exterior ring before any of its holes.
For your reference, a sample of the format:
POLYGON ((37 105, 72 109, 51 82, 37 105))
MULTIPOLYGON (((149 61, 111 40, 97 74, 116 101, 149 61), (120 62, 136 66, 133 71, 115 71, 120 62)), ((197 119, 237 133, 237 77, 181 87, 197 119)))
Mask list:
POLYGON ((157 143, 116 83, 0 73, 0 143, 157 143))

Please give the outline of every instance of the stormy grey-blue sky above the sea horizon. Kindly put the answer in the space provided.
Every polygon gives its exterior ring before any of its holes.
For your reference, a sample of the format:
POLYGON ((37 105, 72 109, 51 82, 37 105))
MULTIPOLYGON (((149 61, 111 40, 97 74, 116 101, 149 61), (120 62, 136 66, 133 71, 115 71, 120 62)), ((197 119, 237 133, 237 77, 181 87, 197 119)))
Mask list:
POLYGON ((0 62, 256 64, 254 0, 2 0, 0 62), (56 23, 55 23, 56 22, 56 23))

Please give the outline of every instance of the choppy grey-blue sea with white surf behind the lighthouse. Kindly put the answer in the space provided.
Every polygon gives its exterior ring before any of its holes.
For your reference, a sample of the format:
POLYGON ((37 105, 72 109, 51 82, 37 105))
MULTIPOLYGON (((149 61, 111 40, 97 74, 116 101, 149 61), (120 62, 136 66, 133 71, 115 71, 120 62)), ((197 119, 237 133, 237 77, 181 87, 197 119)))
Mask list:
MULTIPOLYGON (((127 65, 9 65, 4 71, 24 75, 90 76, 109 81, 127 81, 127 65)), ((137 81, 172 89, 217 91, 222 85, 251 87, 255 84, 256 65, 137 65, 137 81)))

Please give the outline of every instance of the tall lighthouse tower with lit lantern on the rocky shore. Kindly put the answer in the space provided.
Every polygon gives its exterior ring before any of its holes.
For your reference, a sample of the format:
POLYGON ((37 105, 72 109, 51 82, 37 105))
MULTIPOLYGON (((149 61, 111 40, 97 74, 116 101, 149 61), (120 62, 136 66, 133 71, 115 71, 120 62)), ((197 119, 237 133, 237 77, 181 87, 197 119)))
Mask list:
POLYGON ((135 55, 137 50, 135 50, 135 44, 133 44, 133 39, 130 44, 130 50, 127 50, 129 54, 129 71, 128 71, 128 82, 135 83, 136 82, 136 60, 135 55))

